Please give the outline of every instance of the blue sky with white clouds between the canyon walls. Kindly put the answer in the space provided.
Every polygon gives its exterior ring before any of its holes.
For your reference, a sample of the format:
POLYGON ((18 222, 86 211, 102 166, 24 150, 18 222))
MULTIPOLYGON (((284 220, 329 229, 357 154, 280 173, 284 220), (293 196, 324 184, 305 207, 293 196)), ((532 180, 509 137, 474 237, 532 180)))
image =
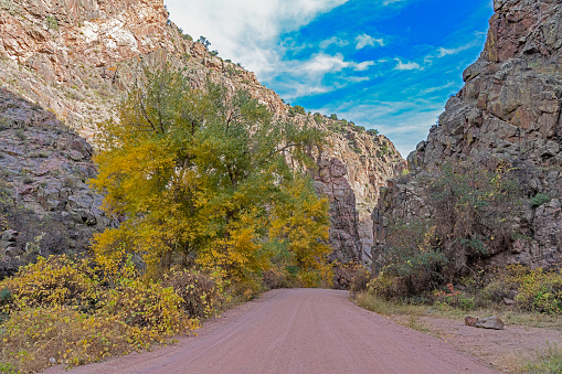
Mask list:
POLYGON ((171 19, 291 105, 427 137, 486 41, 491 0, 165 0, 171 19))

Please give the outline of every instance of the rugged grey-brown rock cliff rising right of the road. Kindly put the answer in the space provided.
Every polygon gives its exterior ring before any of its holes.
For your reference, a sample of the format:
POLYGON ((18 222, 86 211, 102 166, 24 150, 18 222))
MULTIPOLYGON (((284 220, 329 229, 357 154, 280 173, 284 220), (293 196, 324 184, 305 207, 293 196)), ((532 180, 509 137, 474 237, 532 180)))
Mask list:
POLYGON ((463 75, 465 87, 446 105, 407 157, 412 175, 381 191, 373 213, 378 253, 397 220, 426 216, 421 175, 444 161, 515 168, 523 207, 506 250, 486 264, 549 267, 562 260, 562 4, 496 0, 485 51, 463 75))

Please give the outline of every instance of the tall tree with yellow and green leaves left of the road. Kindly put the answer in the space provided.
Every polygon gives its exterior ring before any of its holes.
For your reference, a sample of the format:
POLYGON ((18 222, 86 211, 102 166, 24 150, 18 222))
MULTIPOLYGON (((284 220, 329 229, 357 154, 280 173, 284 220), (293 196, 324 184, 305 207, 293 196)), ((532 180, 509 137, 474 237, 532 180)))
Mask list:
POLYGON ((211 82, 190 89, 166 66, 145 70, 99 133, 91 183, 126 217, 96 236, 102 261, 137 252, 152 276, 197 263, 247 279, 271 266, 268 244, 282 241, 291 265, 321 268, 328 204, 301 173, 320 131, 274 120, 246 92, 211 82))

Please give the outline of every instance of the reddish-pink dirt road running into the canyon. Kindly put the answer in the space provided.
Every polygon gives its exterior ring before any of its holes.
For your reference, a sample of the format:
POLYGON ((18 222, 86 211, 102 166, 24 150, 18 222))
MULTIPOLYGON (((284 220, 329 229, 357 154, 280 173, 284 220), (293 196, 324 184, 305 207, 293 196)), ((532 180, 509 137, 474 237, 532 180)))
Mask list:
MULTIPOLYGON (((63 372, 51 367, 47 373, 63 372)), ((347 291, 266 292, 176 346, 73 373, 498 373, 447 343, 363 310, 347 291)))

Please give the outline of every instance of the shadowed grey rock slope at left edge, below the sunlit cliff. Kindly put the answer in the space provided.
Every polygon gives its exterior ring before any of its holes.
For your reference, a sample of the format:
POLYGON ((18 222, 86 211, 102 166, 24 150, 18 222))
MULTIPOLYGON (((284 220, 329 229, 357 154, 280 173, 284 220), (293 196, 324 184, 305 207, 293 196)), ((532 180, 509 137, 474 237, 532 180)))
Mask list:
POLYGON ((112 224, 85 184, 92 153, 52 113, 0 88, 0 278, 38 255, 86 250, 112 224))

